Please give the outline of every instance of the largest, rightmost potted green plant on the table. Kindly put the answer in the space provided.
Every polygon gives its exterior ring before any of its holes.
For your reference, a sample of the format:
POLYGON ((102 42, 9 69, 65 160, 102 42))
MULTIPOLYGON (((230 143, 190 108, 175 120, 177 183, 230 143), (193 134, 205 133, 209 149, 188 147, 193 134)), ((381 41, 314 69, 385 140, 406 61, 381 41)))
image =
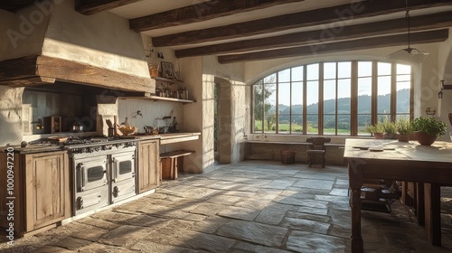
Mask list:
POLYGON ((446 134, 447 125, 435 117, 418 117, 411 122, 420 145, 432 145, 439 136, 446 134))

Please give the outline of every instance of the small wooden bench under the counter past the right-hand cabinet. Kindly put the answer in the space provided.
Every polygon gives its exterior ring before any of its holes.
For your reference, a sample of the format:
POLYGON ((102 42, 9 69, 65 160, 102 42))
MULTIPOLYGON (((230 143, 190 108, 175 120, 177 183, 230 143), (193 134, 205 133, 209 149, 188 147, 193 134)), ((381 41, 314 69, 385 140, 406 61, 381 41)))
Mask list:
POLYGON ((190 150, 176 150, 160 154, 162 179, 177 179, 177 172, 184 170, 184 156, 193 153, 190 150))

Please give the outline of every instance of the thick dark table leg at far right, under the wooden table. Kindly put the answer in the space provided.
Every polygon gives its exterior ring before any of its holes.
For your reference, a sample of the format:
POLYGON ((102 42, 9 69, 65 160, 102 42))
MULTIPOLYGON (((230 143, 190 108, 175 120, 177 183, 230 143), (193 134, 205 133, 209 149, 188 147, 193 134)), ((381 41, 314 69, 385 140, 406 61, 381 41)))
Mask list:
POLYGON ((441 246, 441 188, 437 183, 424 183, 425 227, 432 245, 441 246))

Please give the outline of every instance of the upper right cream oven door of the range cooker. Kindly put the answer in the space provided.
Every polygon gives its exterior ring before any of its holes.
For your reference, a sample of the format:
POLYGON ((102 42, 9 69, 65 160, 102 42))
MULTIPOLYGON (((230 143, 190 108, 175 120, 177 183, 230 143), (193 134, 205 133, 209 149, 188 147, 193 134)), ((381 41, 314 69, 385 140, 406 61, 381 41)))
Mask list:
POLYGON ((118 183, 124 180, 135 181, 135 151, 111 155, 111 181, 118 183))

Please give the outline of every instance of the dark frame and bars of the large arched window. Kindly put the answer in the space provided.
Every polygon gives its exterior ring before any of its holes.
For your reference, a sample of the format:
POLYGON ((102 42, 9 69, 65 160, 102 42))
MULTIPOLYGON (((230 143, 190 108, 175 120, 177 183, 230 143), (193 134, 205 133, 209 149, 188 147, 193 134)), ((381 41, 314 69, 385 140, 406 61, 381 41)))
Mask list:
MULTIPOLYGON (((379 78, 379 73, 378 73, 378 65, 379 63, 389 63, 391 64, 391 109, 390 109, 390 113, 389 116, 391 118, 391 121, 395 121, 397 119, 398 116, 400 115, 408 115, 410 117, 410 119, 413 118, 413 95, 414 95, 414 89, 413 89, 413 84, 414 84, 414 78, 413 78, 413 68, 412 66, 410 66, 409 64, 403 64, 403 63, 399 63, 399 62, 390 62, 390 61, 377 61, 377 60, 353 60, 353 61, 319 61, 319 62, 312 62, 312 63, 306 63, 303 65, 297 65, 297 66, 292 66, 286 69, 282 69, 282 70, 277 70, 271 74, 268 74, 268 76, 257 80, 254 84, 251 85, 251 134, 274 134, 274 135, 281 135, 281 136, 287 136, 287 135, 309 135, 309 136, 324 136, 325 135, 325 126, 324 126, 324 120, 325 120, 325 111, 324 111, 324 105, 325 105, 325 96, 324 96, 324 89, 325 89, 325 75, 324 75, 324 70, 325 70, 325 63, 335 63, 335 78, 334 79, 326 79, 326 80, 334 80, 334 85, 335 85, 335 108, 334 108, 334 114, 327 114, 326 116, 334 116, 335 117, 335 130, 334 130, 334 134, 332 133, 328 133, 326 134, 326 136, 371 136, 371 134, 369 135, 363 135, 363 133, 359 133, 359 126, 358 126, 358 117, 360 115, 363 114, 358 114, 358 83, 359 83, 359 76, 358 76, 358 62, 372 62, 372 66, 371 66, 371 91, 372 91, 372 95, 371 95, 371 124, 375 124, 378 121, 378 78, 379 78), (351 86, 351 90, 350 90, 350 94, 351 94, 351 98, 350 98, 350 104, 351 104, 351 108, 350 108, 350 133, 348 135, 345 134, 340 134, 338 135, 338 126, 339 126, 339 116, 340 115, 348 115, 348 114, 339 114, 338 113, 338 89, 339 89, 339 80, 343 80, 343 78, 339 77, 339 64, 340 62, 350 62, 351 64, 351 78, 350 78, 350 86, 351 86), (313 64, 318 64, 318 118, 317 118, 317 133, 307 133, 307 83, 309 80, 307 80, 307 66, 309 65, 313 65, 313 64), (407 75, 407 74, 398 74, 397 73, 397 66, 398 65, 403 65, 403 66, 410 66, 410 105, 409 105, 409 112, 407 112, 406 114, 400 114, 397 112, 397 77, 400 75, 407 75), (293 80, 293 71, 295 68, 303 68, 303 80, 293 80), (289 115, 288 115, 288 122, 289 122, 289 127, 287 131, 284 132, 280 132, 279 129, 279 121, 280 121, 280 115, 279 115, 279 73, 282 71, 288 70, 289 73, 289 86, 290 86, 290 91, 289 91, 289 101, 290 101, 290 106, 289 106, 289 115), (255 119, 255 113, 254 113, 254 105, 255 105, 255 100, 254 100, 254 91, 255 91, 255 86, 256 85, 262 85, 262 89, 264 89, 264 85, 265 82, 264 80, 268 79, 268 77, 271 77, 272 75, 275 75, 275 102, 276 102, 276 111, 275 111, 275 130, 271 130, 265 129, 264 126, 264 121, 265 121, 265 103, 264 105, 262 105, 262 109, 264 110, 262 112, 262 126, 260 130, 255 130, 256 129, 256 119, 255 119), (294 131, 293 129, 295 129, 294 125, 295 122, 293 122, 293 116, 292 116, 292 110, 293 110, 293 106, 292 105, 292 97, 294 96, 292 93, 293 90, 293 85, 294 83, 302 83, 303 85, 303 115, 302 117, 302 122, 303 122, 303 131, 299 132, 299 131, 294 131)), ((363 78, 363 77, 361 77, 363 78)), ((287 81, 283 82, 284 84, 287 84, 287 81)), ((263 90, 262 90, 263 92, 263 90)), ((381 115, 381 114, 380 114, 381 115)), ((281 115, 281 116, 286 116, 286 114, 281 115)), ((298 116, 296 116, 298 117, 298 116)))

